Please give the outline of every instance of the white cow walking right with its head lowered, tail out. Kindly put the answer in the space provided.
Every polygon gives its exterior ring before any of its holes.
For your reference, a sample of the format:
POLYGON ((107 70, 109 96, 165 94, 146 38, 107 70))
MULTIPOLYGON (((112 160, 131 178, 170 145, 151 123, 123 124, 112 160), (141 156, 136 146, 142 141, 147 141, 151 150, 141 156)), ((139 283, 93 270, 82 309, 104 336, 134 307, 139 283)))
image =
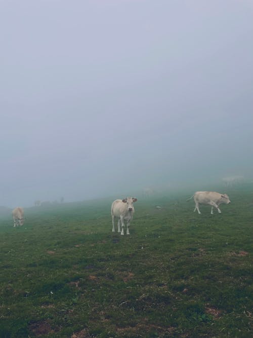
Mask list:
POLYGON ((221 213, 219 205, 222 203, 225 203, 225 204, 231 203, 227 194, 220 194, 216 192, 196 192, 187 201, 190 201, 193 197, 195 201, 194 211, 198 210, 199 214, 201 213, 198 207, 199 204, 211 205, 212 206, 211 214, 213 214, 214 213, 213 207, 216 207, 218 212, 221 213))

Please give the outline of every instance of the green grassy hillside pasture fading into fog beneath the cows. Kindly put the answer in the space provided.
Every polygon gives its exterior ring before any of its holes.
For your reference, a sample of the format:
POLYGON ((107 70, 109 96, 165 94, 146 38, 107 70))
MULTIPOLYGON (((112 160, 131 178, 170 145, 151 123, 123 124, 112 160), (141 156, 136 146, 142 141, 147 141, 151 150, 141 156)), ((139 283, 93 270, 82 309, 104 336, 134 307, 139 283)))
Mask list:
POLYGON ((253 194, 227 193, 214 215, 184 192, 139 198, 130 236, 111 199, 2 218, 0 337, 253 336, 253 194))

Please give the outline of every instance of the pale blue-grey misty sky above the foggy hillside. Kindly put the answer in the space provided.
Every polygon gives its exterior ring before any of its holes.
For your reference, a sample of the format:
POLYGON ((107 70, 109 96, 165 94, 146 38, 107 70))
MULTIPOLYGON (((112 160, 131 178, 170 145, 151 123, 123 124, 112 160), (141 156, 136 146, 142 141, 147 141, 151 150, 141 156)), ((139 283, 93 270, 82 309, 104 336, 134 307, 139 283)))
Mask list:
POLYGON ((0 28, 0 205, 252 178, 251 0, 2 0, 0 28))

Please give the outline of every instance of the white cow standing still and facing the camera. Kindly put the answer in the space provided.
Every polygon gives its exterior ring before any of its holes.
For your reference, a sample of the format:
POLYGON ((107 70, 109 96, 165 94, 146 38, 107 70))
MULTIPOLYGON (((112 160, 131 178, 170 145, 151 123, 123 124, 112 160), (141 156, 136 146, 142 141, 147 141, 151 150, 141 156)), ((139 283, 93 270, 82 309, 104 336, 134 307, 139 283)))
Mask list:
POLYGON ((132 220, 135 212, 133 203, 137 201, 135 197, 124 198, 123 200, 115 200, 111 205, 112 216, 112 232, 115 232, 114 218, 118 217, 118 233, 124 235, 124 220, 126 220, 126 235, 129 235, 130 221, 132 220), (121 226, 121 230, 120 230, 121 226))

